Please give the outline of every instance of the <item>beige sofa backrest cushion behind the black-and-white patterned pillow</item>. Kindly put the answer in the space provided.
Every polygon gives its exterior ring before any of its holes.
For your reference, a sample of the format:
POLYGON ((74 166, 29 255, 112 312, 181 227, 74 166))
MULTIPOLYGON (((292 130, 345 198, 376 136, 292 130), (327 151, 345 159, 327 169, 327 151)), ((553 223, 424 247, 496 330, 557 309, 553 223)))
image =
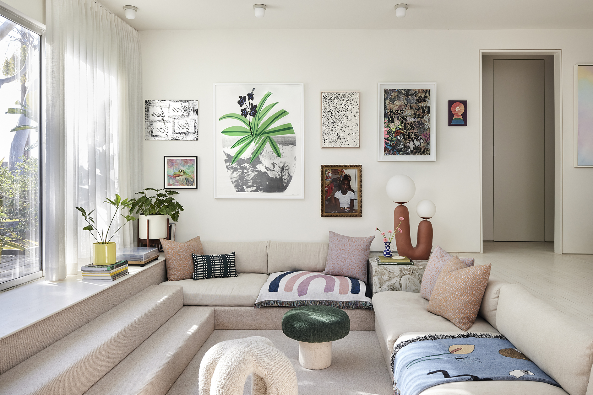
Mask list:
POLYGON ((237 273, 267 274, 267 243, 202 241, 202 248, 205 255, 220 255, 234 251, 237 273))

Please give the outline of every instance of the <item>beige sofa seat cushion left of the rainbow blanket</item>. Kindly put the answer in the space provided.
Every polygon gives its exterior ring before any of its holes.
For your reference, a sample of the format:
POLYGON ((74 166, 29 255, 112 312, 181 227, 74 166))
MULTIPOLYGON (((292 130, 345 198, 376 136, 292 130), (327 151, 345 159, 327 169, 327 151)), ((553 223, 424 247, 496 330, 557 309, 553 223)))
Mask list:
POLYGON ((162 284, 181 285, 186 306, 253 306, 267 277, 267 274, 239 273, 238 277, 167 281, 162 284))

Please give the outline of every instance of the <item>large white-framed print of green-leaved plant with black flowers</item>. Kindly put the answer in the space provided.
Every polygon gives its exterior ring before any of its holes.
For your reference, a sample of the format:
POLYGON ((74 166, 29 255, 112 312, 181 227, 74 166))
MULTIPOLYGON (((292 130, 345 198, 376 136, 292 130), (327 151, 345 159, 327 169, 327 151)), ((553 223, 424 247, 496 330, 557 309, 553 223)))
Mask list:
POLYGON ((214 197, 302 199, 304 84, 214 84, 214 197))

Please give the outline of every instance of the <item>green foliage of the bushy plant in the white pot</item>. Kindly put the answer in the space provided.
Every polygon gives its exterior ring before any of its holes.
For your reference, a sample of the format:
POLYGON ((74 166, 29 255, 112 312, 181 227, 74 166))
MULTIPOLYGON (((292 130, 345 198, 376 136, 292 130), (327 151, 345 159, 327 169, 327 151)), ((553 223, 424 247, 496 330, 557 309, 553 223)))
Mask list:
POLYGON ((183 206, 175 201, 173 195, 179 194, 170 190, 155 190, 154 188, 144 188, 143 192, 136 192, 136 195, 142 195, 139 198, 129 200, 130 213, 142 214, 143 216, 170 216, 174 222, 179 219, 179 213, 183 211, 183 206), (149 196, 148 191, 154 191, 154 196, 149 196))

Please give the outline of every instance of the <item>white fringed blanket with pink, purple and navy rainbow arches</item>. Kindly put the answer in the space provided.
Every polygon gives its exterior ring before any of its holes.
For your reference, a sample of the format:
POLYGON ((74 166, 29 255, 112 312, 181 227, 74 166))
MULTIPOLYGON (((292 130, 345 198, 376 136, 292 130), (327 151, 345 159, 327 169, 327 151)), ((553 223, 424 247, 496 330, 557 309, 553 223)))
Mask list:
POLYGON ((365 291, 365 283, 356 278, 318 272, 278 272, 270 274, 254 307, 317 305, 372 309, 372 300, 365 297, 365 291))

